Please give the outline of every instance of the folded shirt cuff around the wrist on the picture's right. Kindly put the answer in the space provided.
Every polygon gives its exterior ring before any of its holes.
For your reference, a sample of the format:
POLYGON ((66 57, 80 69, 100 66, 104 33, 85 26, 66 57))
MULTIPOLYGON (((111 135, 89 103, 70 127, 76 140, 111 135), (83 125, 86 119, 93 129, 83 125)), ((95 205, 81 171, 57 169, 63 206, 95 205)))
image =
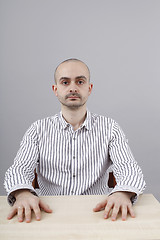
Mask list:
POLYGON ((127 185, 123 185, 123 186, 115 186, 113 188, 113 190, 109 193, 109 195, 111 195, 112 193, 115 193, 115 192, 133 192, 135 193, 136 195, 131 197, 131 202, 132 204, 135 204, 138 200, 138 196, 139 196, 139 190, 135 187, 132 187, 132 186, 127 186, 127 185))

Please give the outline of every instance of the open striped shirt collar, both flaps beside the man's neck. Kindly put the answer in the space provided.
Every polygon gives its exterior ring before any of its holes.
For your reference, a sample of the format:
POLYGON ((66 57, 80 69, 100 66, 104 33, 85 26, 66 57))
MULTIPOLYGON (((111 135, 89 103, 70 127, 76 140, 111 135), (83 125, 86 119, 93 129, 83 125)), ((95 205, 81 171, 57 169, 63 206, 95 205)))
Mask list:
MULTIPOLYGON (((63 129, 66 129, 67 127, 70 126, 70 124, 68 122, 66 122, 66 120, 64 119, 64 117, 62 115, 62 111, 59 113, 59 120, 60 120, 60 123, 61 123, 63 129)), ((91 128, 92 128, 92 114, 88 109, 87 109, 86 119, 83 122, 83 124, 81 125, 81 128, 83 128, 83 127, 85 127, 87 130, 91 130, 91 128)))

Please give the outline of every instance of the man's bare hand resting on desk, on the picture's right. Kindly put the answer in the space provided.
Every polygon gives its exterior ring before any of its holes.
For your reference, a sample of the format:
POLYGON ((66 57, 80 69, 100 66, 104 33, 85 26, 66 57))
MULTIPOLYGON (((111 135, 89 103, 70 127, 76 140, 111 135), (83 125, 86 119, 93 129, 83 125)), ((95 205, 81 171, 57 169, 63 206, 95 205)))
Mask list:
POLYGON ((104 218, 107 219, 110 216, 111 210, 111 220, 115 221, 117 219, 118 213, 121 211, 122 220, 125 221, 127 219, 127 214, 131 215, 131 217, 135 217, 135 213, 131 203, 131 197, 134 193, 131 192, 115 192, 107 197, 107 199, 99 204, 93 209, 94 212, 99 212, 103 209, 104 218))

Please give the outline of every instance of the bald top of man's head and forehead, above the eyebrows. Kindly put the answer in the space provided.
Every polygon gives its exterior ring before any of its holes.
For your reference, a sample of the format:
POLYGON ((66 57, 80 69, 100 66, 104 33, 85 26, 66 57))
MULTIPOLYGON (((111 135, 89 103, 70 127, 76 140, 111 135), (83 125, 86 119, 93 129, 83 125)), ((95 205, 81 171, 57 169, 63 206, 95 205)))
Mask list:
POLYGON ((74 72, 78 73, 79 76, 85 76, 90 81, 90 71, 88 66, 81 60, 76 58, 70 58, 61 62, 54 73, 55 83, 61 77, 70 77, 74 72), (70 76, 69 76, 70 75, 70 76))

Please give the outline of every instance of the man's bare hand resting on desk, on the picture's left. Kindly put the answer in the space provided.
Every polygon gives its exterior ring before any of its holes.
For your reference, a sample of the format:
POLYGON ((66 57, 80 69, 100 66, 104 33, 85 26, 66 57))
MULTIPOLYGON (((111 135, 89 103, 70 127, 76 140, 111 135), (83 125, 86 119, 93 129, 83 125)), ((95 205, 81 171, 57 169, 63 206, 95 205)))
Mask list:
POLYGON ((16 202, 8 214, 7 219, 12 219, 17 214, 19 222, 23 222, 25 218, 26 222, 29 223, 31 222, 32 210, 35 213, 37 221, 41 220, 41 209, 47 213, 52 213, 52 210, 46 203, 27 189, 15 191, 14 196, 16 202))

